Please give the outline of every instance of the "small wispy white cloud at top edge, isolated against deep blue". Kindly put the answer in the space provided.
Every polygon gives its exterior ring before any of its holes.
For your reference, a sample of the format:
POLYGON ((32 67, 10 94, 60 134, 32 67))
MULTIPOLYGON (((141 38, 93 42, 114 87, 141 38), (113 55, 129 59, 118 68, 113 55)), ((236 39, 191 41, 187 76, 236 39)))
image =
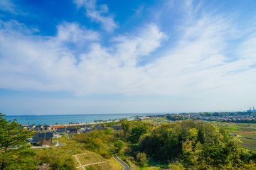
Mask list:
POLYGON ((112 33, 115 28, 118 28, 118 24, 114 22, 114 18, 109 15, 107 5, 97 6, 95 0, 74 0, 74 3, 78 8, 84 7, 86 9, 86 15, 92 21, 100 23, 102 28, 107 32, 112 33))

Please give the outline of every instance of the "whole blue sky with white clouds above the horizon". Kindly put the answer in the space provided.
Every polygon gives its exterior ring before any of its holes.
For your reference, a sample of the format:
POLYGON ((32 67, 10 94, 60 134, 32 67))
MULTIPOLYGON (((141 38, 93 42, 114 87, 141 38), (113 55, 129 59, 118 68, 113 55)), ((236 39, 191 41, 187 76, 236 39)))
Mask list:
POLYGON ((6 115, 246 111, 255 0, 0 0, 6 115))

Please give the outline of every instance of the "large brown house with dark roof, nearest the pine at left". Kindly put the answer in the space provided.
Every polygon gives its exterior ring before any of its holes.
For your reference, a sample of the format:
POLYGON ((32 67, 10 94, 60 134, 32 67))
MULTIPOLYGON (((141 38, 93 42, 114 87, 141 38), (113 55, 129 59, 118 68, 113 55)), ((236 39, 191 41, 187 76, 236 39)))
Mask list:
POLYGON ((33 145, 53 145, 53 132, 40 133, 37 132, 32 139, 33 145))

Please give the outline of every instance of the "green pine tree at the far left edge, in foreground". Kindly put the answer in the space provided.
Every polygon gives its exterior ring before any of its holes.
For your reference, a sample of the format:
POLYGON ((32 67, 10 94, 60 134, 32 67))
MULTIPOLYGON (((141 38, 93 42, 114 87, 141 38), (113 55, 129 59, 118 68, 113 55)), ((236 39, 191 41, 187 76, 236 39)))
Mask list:
POLYGON ((0 113, 0 169, 36 169, 36 161, 31 159, 36 153, 26 142, 33 132, 19 129, 16 120, 3 117, 0 113))

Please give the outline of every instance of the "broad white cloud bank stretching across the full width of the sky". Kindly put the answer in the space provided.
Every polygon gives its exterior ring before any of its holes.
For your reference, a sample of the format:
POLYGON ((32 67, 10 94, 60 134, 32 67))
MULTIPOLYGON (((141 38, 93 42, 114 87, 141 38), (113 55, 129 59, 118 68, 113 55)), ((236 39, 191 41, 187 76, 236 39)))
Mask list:
MULTIPOLYGON (((78 7, 84 3, 77 1, 78 7)), ((96 8, 95 1, 86 5, 96 8)), ((106 13, 107 6, 100 11, 97 13, 106 13)), ((2 21, 0 87, 76 95, 178 96, 187 105, 202 108, 223 106, 225 101, 230 107, 238 101, 252 101, 256 94, 255 31, 246 28, 246 33, 237 34, 240 30, 233 21, 207 13, 186 19, 190 21, 184 21, 175 47, 156 24, 114 37, 105 47, 98 33, 76 23, 63 23, 55 37, 44 38, 29 35, 33 31, 21 23, 11 22, 22 28, 16 29, 2 21), (230 40, 236 38, 243 41, 233 49, 230 40), (87 50, 77 55, 67 41, 83 43, 87 50), (137 66, 140 57, 148 57, 160 47, 152 62, 137 66)))

